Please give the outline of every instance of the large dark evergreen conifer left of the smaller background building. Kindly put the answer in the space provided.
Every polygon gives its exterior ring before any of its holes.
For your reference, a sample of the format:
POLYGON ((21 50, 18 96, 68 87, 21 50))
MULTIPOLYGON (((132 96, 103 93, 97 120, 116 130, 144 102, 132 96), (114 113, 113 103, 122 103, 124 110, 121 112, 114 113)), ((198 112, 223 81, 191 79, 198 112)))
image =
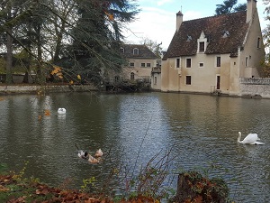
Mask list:
POLYGON ((64 62, 66 68, 72 67, 83 78, 101 84, 110 70, 121 71, 125 62, 120 52, 121 26, 139 11, 127 0, 77 0, 76 5, 79 18, 60 65, 64 62))

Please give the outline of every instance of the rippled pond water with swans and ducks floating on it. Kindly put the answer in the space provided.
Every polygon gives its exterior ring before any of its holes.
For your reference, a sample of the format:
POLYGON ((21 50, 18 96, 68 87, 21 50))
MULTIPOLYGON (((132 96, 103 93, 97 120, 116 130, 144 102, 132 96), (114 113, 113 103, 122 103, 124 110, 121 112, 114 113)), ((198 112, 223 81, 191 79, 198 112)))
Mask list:
MULTIPOLYGON (((237 202, 270 201, 270 100, 171 93, 96 93, 0 97, 0 163, 51 185, 79 189, 83 179, 103 182, 112 169, 138 173, 167 150, 175 187, 177 171, 206 171, 229 184, 237 202), (67 109, 58 115, 58 107, 67 109), (49 109, 50 115, 44 115, 49 109), (41 119, 39 119, 41 115, 41 119), (266 145, 237 143, 257 133, 266 145), (104 160, 91 165, 80 148, 102 148, 104 160), (123 167, 125 166, 125 167, 123 167)), ((166 180, 165 184, 169 184, 166 180)))

